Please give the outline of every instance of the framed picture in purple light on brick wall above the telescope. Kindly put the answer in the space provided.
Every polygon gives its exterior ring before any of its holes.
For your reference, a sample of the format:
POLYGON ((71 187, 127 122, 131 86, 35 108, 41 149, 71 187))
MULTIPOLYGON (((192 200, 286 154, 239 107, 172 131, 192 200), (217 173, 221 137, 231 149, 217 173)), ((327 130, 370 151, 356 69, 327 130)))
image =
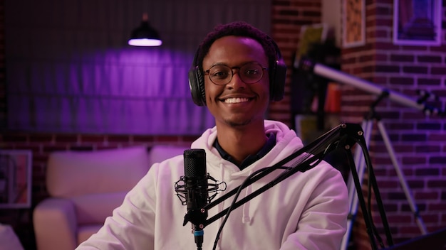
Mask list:
POLYGON ((440 45, 441 0, 393 0, 395 45, 440 45))

